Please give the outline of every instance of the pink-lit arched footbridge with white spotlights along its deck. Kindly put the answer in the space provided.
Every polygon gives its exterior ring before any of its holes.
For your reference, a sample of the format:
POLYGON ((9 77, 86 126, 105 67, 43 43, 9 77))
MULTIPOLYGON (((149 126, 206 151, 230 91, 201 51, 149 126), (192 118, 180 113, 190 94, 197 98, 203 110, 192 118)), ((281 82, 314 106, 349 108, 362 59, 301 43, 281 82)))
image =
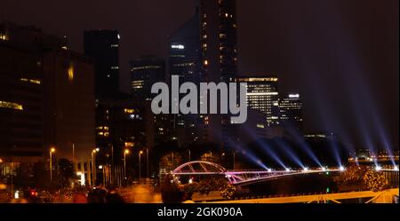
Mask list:
POLYGON ((234 185, 243 185, 273 178, 283 178, 287 176, 296 176, 302 174, 336 172, 344 170, 343 168, 329 169, 321 168, 319 170, 227 170, 215 162, 186 162, 172 171, 175 177, 180 176, 201 176, 201 175, 220 175, 228 178, 229 183, 234 185))

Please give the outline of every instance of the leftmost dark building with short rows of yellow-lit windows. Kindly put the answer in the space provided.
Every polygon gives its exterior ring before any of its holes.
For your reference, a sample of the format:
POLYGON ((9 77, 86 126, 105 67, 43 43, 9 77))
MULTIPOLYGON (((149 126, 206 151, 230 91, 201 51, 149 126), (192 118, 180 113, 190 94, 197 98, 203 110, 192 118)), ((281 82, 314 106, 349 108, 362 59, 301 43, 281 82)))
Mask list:
POLYGON ((0 41, 0 158, 4 162, 36 162, 44 155, 43 79, 43 68, 33 53, 0 41))

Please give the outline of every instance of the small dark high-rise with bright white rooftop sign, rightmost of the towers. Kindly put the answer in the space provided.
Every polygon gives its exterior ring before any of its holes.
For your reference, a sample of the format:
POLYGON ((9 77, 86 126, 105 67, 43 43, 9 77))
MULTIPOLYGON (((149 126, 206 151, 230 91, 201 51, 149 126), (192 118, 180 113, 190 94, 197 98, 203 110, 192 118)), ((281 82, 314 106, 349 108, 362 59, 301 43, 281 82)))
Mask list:
POLYGON ((279 102, 280 122, 284 127, 301 131, 303 126, 300 94, 289 94, 279 102))

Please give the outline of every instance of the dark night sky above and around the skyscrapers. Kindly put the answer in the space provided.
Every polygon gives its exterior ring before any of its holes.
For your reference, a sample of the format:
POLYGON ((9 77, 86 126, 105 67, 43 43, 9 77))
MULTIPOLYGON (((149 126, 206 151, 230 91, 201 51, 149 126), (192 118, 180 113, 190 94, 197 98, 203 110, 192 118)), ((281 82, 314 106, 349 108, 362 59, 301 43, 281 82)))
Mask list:
MULTIPOLYGON (((398 0, 238 0, 240 74, 273 74, 300 92, 306 130, 334 130, 354 146, 398 149, 398 0)), ((2 0, 0 20, 68 36, 120 30, 128 60, 166 58, 167 37, 194 13, 192 0, 2 0)))

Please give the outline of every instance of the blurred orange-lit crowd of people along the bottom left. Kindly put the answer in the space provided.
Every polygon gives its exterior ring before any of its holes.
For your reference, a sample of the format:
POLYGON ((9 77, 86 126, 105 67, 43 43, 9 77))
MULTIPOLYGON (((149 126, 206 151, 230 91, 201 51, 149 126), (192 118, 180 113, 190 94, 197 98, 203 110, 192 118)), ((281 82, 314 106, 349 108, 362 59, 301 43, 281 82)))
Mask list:
MULTIPOLYGON (((131 185, 124 188, 100 185, 60 189, 55 192, 36 190, 19 191, 18 197, 0 188, 0 203, 188 203, 191 195, 180 191, 166 177, 160 188, 150 185, 131 185)), ((2 185, 3 186, 3 185, 2 185)), ((5 186, 5 185, 4 185, 5 186)), ((1 187, 1 186, 0 186, 1 187)))

